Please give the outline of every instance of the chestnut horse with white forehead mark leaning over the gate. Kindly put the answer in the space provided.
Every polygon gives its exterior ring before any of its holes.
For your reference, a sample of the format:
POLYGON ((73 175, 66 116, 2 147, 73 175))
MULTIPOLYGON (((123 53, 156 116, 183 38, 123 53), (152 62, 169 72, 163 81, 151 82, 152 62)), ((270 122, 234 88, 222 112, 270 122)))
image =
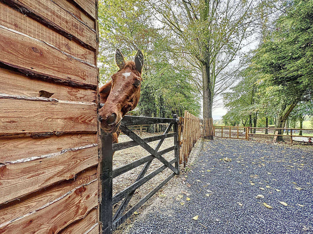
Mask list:
POLYGON ((113 135, 113 143, 118 143, 121 119, 135 109, 140 98, 144 57, 138 50, 134 61, 125 61, 123 53, 117 49, 115 63, 119 70, 99 89, 100 103, 104 106, 99 110, 98 121, 101 129, 113 135))

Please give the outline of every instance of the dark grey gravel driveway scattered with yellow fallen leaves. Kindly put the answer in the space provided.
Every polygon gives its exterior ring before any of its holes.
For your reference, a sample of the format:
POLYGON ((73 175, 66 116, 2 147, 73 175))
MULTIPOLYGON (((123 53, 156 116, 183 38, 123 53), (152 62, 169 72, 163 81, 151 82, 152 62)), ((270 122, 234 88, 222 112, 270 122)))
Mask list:
POLYGON ((178 178, 125 233, 313 233, 312 151, 215 138, 178 178))

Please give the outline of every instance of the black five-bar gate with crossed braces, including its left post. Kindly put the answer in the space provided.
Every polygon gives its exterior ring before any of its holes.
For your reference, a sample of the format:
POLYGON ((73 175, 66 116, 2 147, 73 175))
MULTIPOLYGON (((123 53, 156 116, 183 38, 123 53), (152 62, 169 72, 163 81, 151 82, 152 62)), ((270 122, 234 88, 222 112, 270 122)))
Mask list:
POLYGON ((102 144, 102 161, 100 164, 100 179, 102 187, 102 201, 100 204, 100 222, 102 222, 102 231, 104 234, 112 233, 121 223, 123 223, 128 217, 131 216, 139 207, 141 207, 150 197, 152 197, 160 188, 162 188, 174 175, 179 174, 179 143, 178 143, 178 127, 177 127, 177 115, 173 115, 173 119, 165 118, 151 118, 151 117, 141 117, 141 116, 124 116, 121 121, 120 130, 129 136, 132 141, 122 142, 112 145, 112 136, 105 134, 101 130, 101 144, 102 144), (141 139, 133 131, 131 131, 127 126, 130 125, 141 125, 141 124, 169 124, 164 134, 148 137, 141 139), (170 129, 173 127, 174 133, 169 133, 170 129), (167 149, 158 151, 165 138, 174 137, 174 145, 167 149), (147 143, 159 140, 156 147, 153 149, 147 143), (114 151, 121 149, 127 149, 136 145, 140 145, 145 149, 150 155, 145 156, 141 159, 128 163, 124 166, 112 170, 112 155, 114 151), (174 150, 175 158, 169 162, 162 157, 174 150), (157 168, 155 171, 147 174, 147 170, 153 159, 158 159, 164 165, 157 168), (175 166, 172 164, 175 163, 175 166), (130 171, 142 164, 145 164, 141 172, 139 173, 136 181, 122 190, 121 192, 112 196, 112 180, 113 178, 130 171), (164 169, 169 168, 173 173, 162 181, 156 188, 154 188, 150 193, 143 197, 139 202, 136 203, 131 209, 125 212, 127 204, 130 202, 131 197, 135 193, 136 189, 141 185, 149 181, 151 178, 161 173, 164 169), (121 202, 121 205, 113 215, 112 207, 117 202, 121 202), (125 214, 123 214, 125 212, 125 214))

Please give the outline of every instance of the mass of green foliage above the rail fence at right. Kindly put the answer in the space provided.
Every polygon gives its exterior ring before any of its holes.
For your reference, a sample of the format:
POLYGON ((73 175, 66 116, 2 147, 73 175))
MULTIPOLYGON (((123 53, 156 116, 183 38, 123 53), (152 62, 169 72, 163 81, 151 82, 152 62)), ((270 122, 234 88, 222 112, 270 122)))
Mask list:
POLYGON ((224 96, 229 115, 243 118, 257 113, 261 118, 273 117, 277 127, 284 127, 290 113, 290 125, 312 114, 313 0, 288 1, 284 6, 274 28, 264 31, 264 40, 253 51, 241 81, 224 96), (240 112, 232 111, 239 107, 240 112))

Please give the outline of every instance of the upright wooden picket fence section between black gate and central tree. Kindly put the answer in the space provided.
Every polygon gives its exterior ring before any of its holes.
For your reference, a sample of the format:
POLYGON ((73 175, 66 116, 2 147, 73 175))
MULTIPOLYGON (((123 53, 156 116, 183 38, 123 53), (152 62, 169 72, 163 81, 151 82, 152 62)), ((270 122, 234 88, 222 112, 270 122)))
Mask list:
MULTIPOLYGON (((181 122, 182 124, 182 122, 181 122)), ((187 110, 185 111, 182 125, 182 139, 181 140, 181 148, 179 159, 180 163, 184 163, 184 167, 186 163, 188 163, 188 156, 197 142, 197 140, 201 137, 200 132, 200 119, 192 114, 190 114, 187 110)))

